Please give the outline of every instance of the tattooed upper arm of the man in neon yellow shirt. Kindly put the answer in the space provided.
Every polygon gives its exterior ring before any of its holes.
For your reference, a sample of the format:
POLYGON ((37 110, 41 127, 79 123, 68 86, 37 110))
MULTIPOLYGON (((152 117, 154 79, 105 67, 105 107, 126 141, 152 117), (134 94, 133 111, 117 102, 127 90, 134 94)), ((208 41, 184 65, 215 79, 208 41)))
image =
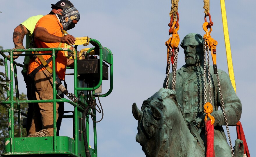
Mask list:
POLYGON ((29 34, 27 28, 20 24, 13 31, 13 43, 14 47, 17 48, 19 45, 23 45, 23 39, 26 34, 29 34))

